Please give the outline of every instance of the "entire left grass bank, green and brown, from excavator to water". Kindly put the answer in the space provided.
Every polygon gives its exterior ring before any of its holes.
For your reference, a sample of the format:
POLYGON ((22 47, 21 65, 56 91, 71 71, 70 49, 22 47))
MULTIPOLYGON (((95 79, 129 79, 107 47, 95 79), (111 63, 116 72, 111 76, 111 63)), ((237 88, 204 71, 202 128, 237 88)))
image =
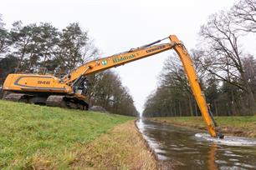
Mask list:
POLYGON ((0 101, 0 169, 153 168, 134 119, 0 101))

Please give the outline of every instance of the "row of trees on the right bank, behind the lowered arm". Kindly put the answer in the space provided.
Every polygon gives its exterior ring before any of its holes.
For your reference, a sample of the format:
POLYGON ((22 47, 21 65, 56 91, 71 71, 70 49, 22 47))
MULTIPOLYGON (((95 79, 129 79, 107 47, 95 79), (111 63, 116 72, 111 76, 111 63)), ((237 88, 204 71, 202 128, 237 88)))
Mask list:
MULTIPOLYGON (((215 116, 256 113, 256 59, 244 50, 249 42, 243 43, 255 32, 255 0, 240 0, 228 10, 212 14, 200 29, 197 49, 190 54, 215 116)), ((147 97, 145 117, 200 115, 177 58, 173 54, 166 59, 160 85, 147 97)))

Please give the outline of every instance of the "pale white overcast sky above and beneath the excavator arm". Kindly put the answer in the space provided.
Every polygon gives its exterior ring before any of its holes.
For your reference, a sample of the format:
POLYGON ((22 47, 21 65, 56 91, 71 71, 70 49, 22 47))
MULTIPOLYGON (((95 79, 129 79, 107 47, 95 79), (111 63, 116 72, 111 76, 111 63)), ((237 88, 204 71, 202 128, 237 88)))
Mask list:
MULTIPOLYGON (((196 47, 197 33, 207 17, 228 9, 234 0, 1 0, 3 22, 47 22, 56 28, 79 23, 90 32, 102 57, 176 34, 187 49, 196 47)), ((157 77, 171 51, 113 68, 130 89, 138 111, 156 89, 157 77)))

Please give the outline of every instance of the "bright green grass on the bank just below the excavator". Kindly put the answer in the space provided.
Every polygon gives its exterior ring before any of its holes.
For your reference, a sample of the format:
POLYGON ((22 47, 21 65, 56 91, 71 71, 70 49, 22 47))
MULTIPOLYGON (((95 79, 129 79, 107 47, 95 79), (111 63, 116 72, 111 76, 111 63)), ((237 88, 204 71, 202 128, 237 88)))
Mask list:
POLYGON ((0 169, 44 161, 66 168, 72 150, 134 117, 0 101, 0 169))

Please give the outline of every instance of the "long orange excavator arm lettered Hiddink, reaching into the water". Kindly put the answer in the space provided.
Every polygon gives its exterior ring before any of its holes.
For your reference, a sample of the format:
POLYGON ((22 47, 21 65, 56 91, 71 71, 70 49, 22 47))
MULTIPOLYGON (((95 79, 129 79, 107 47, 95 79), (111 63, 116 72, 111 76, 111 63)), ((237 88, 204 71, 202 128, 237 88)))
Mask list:
POLYGON ((204 122, 206 123, 207 130, 210 135, 215 138, 218 135, 214 128, 214 120, 208 110, 207 102, 198 82, 197 73, 195 72, 195 68, 193 67, 192 59, 189 56, 187 49, 183 46, 182 42, 178 40, 175 35, 171 35, 169 39, 171 40, 170 43, 154 45, 158 42, 161 42, 161 40, 159 40, 143 47, 131 49, 128 52, 122 52, 110 57, 104 57, 91 62, 86 62, 80 67, 77 67, 73 71, 71 71, 69 75, 65 76, 62 79, 62 82, 73 86, 76 82, 79 82, 79 80, 86 75, 100 72, 111 67, 118 67, 120 65, 124 65, 127 62, 133 62, 138 59, 149 57, 156 53, 164 52, 169 49, 174 49, 182 61, 190 86, 192 88, 193 95, 196 98, 197 105, 200 108, 200 111, 202 112, 202 117, 204 119, 204 122))

